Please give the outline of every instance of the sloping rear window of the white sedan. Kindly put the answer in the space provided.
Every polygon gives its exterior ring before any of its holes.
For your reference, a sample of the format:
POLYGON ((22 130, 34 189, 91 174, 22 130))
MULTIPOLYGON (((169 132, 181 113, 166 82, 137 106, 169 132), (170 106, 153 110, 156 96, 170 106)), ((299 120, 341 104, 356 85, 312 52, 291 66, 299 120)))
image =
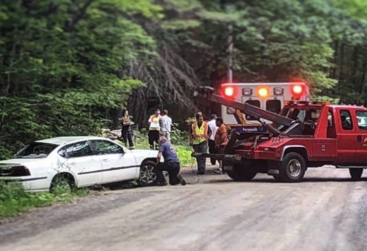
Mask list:
POLYGON ((23 147, 14 157, 25 159, 40 159, 46 158, 57 145, 33 142, 23 147))

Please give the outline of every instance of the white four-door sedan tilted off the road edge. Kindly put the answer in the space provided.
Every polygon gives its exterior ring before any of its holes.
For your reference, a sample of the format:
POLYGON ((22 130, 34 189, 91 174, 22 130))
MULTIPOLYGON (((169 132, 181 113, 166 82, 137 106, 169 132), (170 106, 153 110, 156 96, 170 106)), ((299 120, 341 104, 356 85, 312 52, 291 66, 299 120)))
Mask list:
POLYGON ((17 180, 27 191, 48 191, 57 183, 72 187, 136 180, 155 182, 158 152, 128 150, 102 137, 55 137, 35 141, 11 160, 0 161, 0 179, 17 180))

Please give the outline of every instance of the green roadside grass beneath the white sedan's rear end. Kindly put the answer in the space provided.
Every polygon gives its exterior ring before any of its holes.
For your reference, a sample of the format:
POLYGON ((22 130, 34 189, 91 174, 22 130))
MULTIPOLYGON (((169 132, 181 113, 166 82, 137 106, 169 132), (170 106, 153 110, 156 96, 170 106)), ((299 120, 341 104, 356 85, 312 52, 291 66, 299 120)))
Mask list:
POLYGON ((52 193, 28 193, 19 183, 0 183, 0 218, 14 216, 35 207, 55 203, 70 203, 76 197, 89 194, 88 189, 77 189, 70 193, 64 187, 55 187, 52 193))

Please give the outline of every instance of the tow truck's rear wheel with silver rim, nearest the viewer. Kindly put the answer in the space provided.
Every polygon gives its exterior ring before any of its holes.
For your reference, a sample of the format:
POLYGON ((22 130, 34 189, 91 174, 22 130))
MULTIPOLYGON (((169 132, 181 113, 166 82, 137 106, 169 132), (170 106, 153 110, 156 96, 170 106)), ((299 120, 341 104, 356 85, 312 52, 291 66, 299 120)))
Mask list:
POLYGON ((279 180, 282 182, 300 182, 306 172, 306 161, 298 153, 288 153, 279 166, 279 180))

